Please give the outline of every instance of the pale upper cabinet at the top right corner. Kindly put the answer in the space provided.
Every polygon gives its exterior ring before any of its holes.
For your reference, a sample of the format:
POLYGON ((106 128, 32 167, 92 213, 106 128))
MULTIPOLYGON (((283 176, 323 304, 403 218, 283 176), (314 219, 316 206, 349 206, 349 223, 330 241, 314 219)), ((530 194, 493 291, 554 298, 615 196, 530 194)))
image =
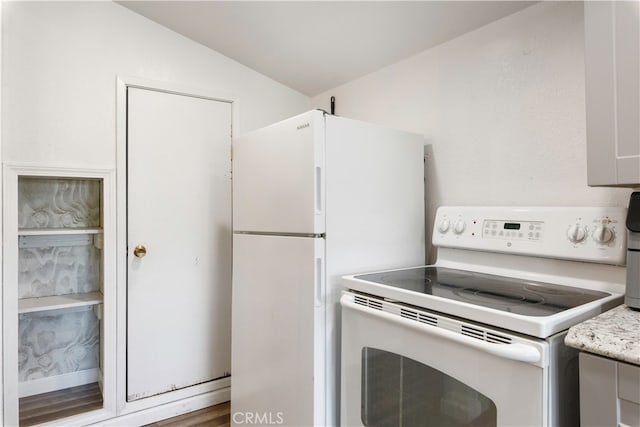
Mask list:
POLYGON ((640 2, 585 2, 589 185, 640 184, 640 2))

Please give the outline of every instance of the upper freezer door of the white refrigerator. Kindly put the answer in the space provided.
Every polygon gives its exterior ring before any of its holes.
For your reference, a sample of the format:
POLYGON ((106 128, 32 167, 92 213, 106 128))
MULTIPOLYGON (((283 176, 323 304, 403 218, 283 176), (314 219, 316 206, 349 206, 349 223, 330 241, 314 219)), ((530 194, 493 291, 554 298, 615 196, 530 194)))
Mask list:
POLYGON ((324 233, 321 111, 310 111, 234 139, 233 228, 324 233))

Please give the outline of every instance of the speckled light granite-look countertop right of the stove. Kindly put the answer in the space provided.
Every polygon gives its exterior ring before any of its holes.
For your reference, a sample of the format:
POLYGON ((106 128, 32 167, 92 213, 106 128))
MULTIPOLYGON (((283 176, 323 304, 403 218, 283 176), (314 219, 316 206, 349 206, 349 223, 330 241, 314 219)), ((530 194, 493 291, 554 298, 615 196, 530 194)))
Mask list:
POLYGON ((571 327, 564 342, 581 351, 640 365, 640 311, 620 305, 571 327))

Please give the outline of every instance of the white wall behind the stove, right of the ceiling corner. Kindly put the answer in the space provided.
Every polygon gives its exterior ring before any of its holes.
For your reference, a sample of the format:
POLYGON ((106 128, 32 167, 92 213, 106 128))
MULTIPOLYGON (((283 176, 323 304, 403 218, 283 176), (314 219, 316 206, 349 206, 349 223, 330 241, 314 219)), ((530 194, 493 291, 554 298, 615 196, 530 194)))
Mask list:
POLYGON ((439 205, 627 206, 586 177, 582 4, 534 5, 312 99, 425 135, 439 205))

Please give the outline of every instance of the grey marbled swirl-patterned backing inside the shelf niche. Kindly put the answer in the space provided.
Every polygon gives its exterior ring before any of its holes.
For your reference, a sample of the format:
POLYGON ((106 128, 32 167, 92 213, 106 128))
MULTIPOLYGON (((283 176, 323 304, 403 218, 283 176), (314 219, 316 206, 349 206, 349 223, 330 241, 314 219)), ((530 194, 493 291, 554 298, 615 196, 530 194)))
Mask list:
MULTIPOLYGON (((18 298, 101 290, 102 208, 100 179, 18 177, 18 298)), ((19 314, 17 352, 19 382, 33 389, 52 384, 39 379, 99 368, 94 306, 19 314)))

